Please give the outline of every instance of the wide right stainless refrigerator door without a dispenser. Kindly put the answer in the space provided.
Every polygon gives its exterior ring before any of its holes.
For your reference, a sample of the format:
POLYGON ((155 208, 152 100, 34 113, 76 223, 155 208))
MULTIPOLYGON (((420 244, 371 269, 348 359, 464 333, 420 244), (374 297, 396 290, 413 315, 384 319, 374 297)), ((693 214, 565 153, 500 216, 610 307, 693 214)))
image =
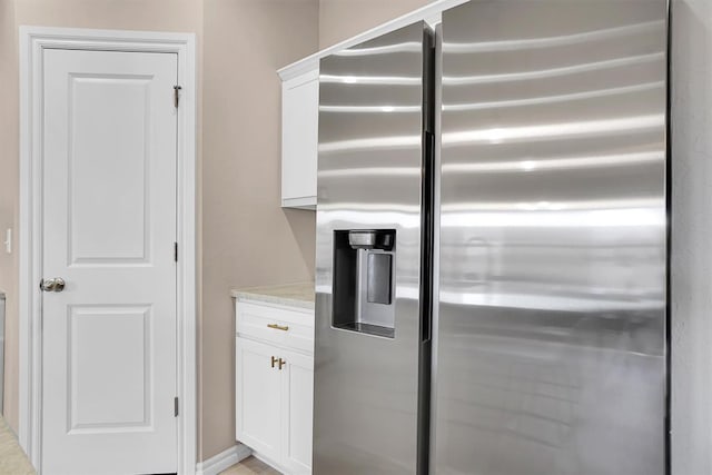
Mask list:
POLYGON ((444 13, 431 473, 665 473, 666 14, 444 13))

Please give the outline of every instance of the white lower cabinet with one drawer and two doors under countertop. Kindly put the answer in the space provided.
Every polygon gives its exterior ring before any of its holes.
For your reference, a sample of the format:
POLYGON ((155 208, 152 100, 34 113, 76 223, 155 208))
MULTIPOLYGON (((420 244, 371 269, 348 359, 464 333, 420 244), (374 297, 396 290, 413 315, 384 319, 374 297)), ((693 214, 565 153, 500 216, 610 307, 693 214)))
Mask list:
POLYGON ((313 335, 314 313, 240 301, 236 310, 236 438, 285 474, 310 474, 314 356, 304 327, 313 335))

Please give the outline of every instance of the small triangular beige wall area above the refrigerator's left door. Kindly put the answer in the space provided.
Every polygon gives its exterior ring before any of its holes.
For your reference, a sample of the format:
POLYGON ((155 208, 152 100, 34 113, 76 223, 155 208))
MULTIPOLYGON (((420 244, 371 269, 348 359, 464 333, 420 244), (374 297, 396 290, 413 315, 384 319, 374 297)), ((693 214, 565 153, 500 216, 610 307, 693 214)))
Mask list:
POLYGON ((320 0, 319 49, 398 18, 434 0, 320 0))

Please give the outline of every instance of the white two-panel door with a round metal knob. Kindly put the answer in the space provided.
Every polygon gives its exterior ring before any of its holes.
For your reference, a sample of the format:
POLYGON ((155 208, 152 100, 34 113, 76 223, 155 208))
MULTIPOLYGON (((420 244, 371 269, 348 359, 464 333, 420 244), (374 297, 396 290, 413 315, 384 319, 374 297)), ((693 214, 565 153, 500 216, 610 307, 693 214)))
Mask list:
POLYGON ((43 52, 44 474, 177 471, 177 61, 43 52))

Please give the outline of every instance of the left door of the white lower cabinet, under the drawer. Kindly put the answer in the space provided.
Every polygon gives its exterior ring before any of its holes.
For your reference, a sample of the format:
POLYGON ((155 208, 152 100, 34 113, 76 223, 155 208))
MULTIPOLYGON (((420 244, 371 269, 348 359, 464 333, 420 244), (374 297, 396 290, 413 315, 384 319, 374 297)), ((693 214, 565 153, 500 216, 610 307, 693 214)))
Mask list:
POLYGON ((278 459, 281 453, 281 375, 269 345, 237 338, 235 345, 236 437, 260 454, 278 459))

